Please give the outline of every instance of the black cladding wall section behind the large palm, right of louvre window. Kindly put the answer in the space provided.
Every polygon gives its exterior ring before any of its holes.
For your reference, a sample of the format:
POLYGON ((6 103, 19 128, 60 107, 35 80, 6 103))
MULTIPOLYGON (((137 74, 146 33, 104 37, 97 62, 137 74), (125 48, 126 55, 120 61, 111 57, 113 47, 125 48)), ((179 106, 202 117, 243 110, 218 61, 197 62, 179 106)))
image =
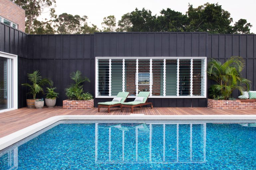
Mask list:
MULTIPOLYGON (((255 34, 208 34, 208 56, 225 62, 231 56, 241 56, 245 60, 243 77, 252 82, 251 90, 256 90, 256 35, 255 34)), ((212 84, 208 80, 208 84, 212 84)), ((240 95, 239 91, 233 97, 240 95)))

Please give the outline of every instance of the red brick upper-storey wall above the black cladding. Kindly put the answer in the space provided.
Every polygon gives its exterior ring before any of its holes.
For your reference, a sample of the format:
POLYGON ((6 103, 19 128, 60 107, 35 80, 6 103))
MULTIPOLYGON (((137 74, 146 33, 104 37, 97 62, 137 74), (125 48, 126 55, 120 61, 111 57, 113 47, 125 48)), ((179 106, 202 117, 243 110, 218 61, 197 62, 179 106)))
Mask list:
POLYGON ((18 29, 25 32, 25 10, 10 0, 0 0, 0 16, 18 24, 18 29))

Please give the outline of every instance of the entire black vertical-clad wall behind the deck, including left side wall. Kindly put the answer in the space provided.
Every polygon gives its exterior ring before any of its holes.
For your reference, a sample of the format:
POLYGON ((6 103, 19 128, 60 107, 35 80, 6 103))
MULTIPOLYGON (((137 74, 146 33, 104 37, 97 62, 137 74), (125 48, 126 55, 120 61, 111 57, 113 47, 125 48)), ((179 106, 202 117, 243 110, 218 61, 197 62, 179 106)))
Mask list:
MULTIPOLYGON (((94 35, 27 35, 0 23, 0 51, 18 55, 18 107, 26 106, 27 73, 39 70, 54 81, 60 96, 57 106, 66 99, 64 89, 72 82, 69 73, 80 70, 90 78, 84 91, 95 92, 95 57, 207 57, 226 61, 241 56, 246 65, 242 74, 256 90, 256 35, 207 34, 205 32, 125 32, 94 35)), ((212 82, 208 80, 208 85, 212 82)), ((233 93, 237 97, 239 92, 233 93)), ((38 95, 38 97, 44 97, 38 95)), ((128 99, 131 101, 133 99, 128 99)), ((205 107, 206 99, 151 98, 156 107, 205 107)), ((98 98, 95 103, 109 101, 98 98)), ((97 105, 95 105, 97 106, 97 105)))

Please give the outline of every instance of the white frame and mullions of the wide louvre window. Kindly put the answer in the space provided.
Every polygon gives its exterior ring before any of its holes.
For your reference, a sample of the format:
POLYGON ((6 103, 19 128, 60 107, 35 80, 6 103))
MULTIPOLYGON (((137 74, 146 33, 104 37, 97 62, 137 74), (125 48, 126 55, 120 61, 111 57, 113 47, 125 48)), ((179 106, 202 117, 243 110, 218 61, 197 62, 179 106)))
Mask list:
MULTIPOLYGON (((165 61, 166 60, 170 60, 170 59, 176 59, 177 60, 177 96, 166 96, 165 94, 165 87, 166 87, 166 84, 164 84, 164 95, 163 96, 152 96, 150 95, 149 98, 206 98, 206 79, 207 79, 207 75, 206 75, 206 63, 207 63, 207 60, 206 60, 206 57, 95 57, 95 98, 109 98, 109 97, 115 97, 115 96, 111 96, 111 88, 109 89, 110 91, 110 95, 109 96, 98 96, 98 60, 106 60, 106 59, 109 59, 110 61, 113 59, 122 59, 123 60, 123 64, 124 64, 124 60, 136 60, 136 96, 138 95, 138 60, 154 60, 154 59, 162 59, 164 61, 164 78, 163 78, 163 81, 164 83, 166 82, 166 69, 165 69, 165 61), (190 95, 188 96, 180 96, 179 95, 179 60, 195 60, 195 59, 200 59, 200 60, 204 60, 204 70, 202 70, 202 72, 204 73, 203 74, 203 77, 204 77, 204 89, 203 89, 203 96, 193 96, 192 95, 192 79, 191 79, 191 93, 190 95)), ((152 63, 150 63, 150 66, 152 67, 152 63)), ((192 63, 191 63, 191 77, 192 77, 192 63)), ((152 84, 153 84, 153 80, 152 80, 152 69, 150 70, 150 75, 151 75, 151 79, 150 79, 150 94, 152 94, 152 84)), ((123 90, 124 90, 124 66, 123 66, 123 90)), ((110 85, 111 87, 111 85, 110 85)), ((135 98, 136 96, 128 96, 128 98, 135 98)))

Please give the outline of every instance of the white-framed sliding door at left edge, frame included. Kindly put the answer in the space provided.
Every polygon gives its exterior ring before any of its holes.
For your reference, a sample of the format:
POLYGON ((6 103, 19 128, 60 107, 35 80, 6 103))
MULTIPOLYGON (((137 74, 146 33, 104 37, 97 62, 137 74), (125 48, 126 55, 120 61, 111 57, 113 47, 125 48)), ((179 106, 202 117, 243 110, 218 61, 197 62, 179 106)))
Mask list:
POLYGON ((0 112, 18 107, 17 56, 0 52, 0 112))

